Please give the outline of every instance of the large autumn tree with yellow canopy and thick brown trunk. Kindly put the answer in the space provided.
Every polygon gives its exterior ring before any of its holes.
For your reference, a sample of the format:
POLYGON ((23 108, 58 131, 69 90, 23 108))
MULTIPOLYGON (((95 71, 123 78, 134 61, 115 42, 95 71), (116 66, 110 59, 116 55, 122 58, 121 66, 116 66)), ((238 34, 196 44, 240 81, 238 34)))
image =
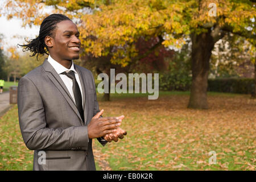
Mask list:
MULTIPOLYGON (((17 0, 16 5, 9 2, 5 13, 23 18, 27 24, 39 24, 42 19, 36 16, 39 2, 17 0)), ((46 5, 79 20, 85 52, 96 57, 112 53, 110 61, 122 67, 140 56, 135 43, 141 36, 157 36, 164 46, 175 47, 181 47, 189 36, 192 86, 188 107, 191 108, 208 108, 207 80, 214 44, 228 32, 244 36, 254 47, 256 42, 255 4, 249 0, 52 0, 46 1, 46 5), (85 7, 92 9, 89 12, 85 7), (90 39, 91 35, 97 39, 90 39), (118 49, 110 52, 113 46, 118 49)))

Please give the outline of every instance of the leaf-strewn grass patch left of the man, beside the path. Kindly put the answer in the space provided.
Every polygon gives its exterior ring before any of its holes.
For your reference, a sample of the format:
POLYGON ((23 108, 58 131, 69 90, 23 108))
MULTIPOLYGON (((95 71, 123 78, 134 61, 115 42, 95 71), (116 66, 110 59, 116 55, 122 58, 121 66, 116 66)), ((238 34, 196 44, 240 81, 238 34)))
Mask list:
POLYGON ((0 170, 32 170, 33 151, 25 146, 14 105, 0 118, 0 170))

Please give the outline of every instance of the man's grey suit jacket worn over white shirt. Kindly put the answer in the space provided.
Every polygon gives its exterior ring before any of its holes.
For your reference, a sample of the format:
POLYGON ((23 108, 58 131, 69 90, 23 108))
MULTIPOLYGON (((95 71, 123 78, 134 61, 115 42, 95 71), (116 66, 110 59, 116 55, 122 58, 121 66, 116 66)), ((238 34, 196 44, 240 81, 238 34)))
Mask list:
POLYGON ((24 143, 34 150, 34 170, 96 170, 87 127, 100 111, 96 88, 92 72, 74 66, 82 85, 85 122, 47 60, 19 80, 19 125, 24 143))

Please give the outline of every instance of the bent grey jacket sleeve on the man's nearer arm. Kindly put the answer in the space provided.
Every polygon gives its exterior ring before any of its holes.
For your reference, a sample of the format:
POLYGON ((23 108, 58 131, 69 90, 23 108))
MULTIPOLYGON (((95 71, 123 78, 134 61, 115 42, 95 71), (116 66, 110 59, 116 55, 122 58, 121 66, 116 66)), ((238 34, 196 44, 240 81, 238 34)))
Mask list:
POLYGON ((22 77, 18 84, 19 125, 30 150, 87 150, 87 126, 48 128, 43 100, 34 83, 22 77))

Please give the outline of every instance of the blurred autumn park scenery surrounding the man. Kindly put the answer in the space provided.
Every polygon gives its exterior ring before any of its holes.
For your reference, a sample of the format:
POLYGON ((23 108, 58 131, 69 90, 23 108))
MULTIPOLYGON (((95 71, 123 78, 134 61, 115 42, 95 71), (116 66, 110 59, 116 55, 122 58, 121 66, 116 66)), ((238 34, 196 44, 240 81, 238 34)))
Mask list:
POLYGON ((255 1, 3 0, 0 2, 0 169, 31 170, 10 86, 43 63, 17 44, 53 13, 77 24, 75 63, 97 76, 159 73, 159 98, 97 94, 127 137, 101 147, 98 170, 255 170, 255 1))

